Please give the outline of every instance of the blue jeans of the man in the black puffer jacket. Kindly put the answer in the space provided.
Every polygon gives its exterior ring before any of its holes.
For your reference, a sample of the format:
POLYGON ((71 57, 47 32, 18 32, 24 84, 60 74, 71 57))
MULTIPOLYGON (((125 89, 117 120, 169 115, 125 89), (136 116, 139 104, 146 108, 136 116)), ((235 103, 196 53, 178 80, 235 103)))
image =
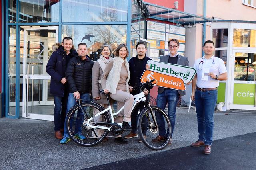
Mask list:
MULTIPOLYGON (((89 93, 84 93, 84 94, 80 94, 80 99, 83 99, 83 100, 90 100, 90 95, 89 93)), ((78 104, 78 102, 76 102, 76 99, 74 98, 74 95, 73 93, 69 93, 69 96, 68 96, 68 107, 67 107, 67 113, 68 111, 73 107, 75 106, 76 104, 78 104)), ((82 122, 83 122, 83 119, 84 119, 84 114, 82 113, 81 109, 78 109, 77 111, 77 117, 79 119, 76 119, 76 126, 75 126, 75 134, 80 132, 82 129, 81 129, 81 125, 82 125, 82 122)), ((68 135, 68 129, 67 129, 67 126, 66 126, 66 121, 67 121, 67 117, 65 119, 65 125, 64 125, 64 136, 69 136, 68 135)), ((73 119, 71 118, 70 119, 70 129, 72 129, 72 123, 73 122, 73 119)))

